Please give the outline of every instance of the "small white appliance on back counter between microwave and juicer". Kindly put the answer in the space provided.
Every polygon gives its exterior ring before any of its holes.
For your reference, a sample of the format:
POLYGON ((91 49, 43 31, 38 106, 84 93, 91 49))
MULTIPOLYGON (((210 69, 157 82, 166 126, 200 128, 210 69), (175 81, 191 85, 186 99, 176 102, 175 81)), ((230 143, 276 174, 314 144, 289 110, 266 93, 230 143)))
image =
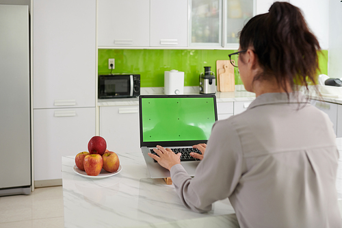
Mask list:
POLYGON ((176 70, 164 72, 164 93, 168 95, 184 93, 184 72, 176 70))

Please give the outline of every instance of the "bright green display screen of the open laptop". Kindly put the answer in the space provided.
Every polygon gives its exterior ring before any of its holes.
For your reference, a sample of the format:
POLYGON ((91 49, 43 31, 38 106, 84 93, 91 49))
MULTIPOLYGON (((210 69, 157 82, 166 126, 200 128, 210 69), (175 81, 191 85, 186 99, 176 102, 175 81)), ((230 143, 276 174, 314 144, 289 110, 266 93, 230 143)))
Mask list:
POLYGON ((144 142, 208 140, 215 123, 212 97, 142 99, 144 142))

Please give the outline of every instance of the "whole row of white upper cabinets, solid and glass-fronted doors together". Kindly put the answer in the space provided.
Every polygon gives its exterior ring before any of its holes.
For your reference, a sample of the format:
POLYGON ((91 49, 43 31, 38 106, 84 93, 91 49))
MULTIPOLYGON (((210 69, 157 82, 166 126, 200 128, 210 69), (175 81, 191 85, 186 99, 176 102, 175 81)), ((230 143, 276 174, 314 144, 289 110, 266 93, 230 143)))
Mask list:
POLYGON ((237 49, 256 0, 98 0, 98 47, 237 49))

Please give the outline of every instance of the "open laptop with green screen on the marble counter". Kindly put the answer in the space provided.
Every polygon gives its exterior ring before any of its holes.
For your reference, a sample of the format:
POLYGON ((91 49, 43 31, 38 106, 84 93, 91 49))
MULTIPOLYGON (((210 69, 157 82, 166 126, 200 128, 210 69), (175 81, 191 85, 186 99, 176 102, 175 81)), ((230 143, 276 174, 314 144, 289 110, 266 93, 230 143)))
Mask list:
MULTIPOLYGON (((216 97, 214 94, 140 95, 139 117, 140 147, 150 177, 170 177, 169 170, 155 162, 148 153, 152 153, 151 149, 157 145, 176 151, 207 143, 211 128, 218 119, 216 97)), ((190 176, 195 175, 199 162, 181 159, 190 176)))

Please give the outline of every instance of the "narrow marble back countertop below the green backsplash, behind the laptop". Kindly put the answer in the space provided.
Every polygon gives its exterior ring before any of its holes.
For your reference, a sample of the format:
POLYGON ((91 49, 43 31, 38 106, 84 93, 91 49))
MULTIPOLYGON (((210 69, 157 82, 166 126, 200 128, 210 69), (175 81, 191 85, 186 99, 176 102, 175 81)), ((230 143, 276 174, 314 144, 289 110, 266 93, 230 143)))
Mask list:
MULTIPOLYGON (((163 94, 163 87, 141 88, 141 94, 163 94)), ((185 94, 200 94, 198 87, 185 86, 185 94)), ((217 102, 230 101, 253 101, 255 94, 246 90, 237 90, 234 92, 216 92, 217 102)), ((139 105, 139 99, 135 98, 118 98, 118 99, 98 99, 98 106, 116 106, 116 105, 139 105)))

